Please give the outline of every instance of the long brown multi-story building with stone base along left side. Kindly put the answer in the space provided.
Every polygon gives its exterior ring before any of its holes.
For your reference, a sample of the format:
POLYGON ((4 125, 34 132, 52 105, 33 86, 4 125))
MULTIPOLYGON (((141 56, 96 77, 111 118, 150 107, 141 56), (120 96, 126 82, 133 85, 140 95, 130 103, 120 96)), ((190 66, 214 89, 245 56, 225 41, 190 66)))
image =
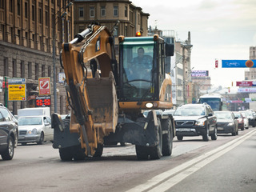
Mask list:
POLYGON ((34 107, 38 96, 38 78, 51 82, 51 112, 54 112, 54 91, 57 91, 58 113, 66 113, 66 91, 54 77, 62 72, 59 51, 62 42, 73 36, 73 9, 70 1, 1 0, 0 1, 0 77, 26 78, 26 101, 10 102, 3 89, 0 102, 17 114, 20 108, 34 107), (68 6, 66 6, 68 5, 68 6), (63 14, 65 13, 66 14, 63 14), (66 15, 66 17, 62 17, 66 15), (54 33, 55 32, 55 33, 54 33), (53 40, 56 40, 56 70, 53 65, 53 40), (7 103, 6 103, 7 101, 7 103))

